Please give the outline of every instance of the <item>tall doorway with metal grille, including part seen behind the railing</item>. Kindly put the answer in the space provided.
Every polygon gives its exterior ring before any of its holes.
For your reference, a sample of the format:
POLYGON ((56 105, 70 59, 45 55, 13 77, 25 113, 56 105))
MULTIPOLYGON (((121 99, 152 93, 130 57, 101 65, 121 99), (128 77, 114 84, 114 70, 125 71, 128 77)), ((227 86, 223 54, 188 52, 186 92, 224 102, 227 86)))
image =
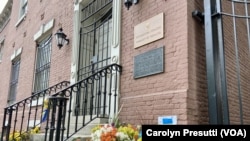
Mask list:
MULTIPOLYGON (((111 31, 112 0, 93 0, 82 9, 79 35, 79 81, 111 64, 111 31)), ((110 82, 111 80, 105 78, 101 81, 110 82)), ((88 87, 86 91, 78 91, 75 99, 75 115, 82 115, 85 108, 90 115, 98 113, 97 107, 101 104, 98 100, 104 100, 106 96, 100 98, 97 94, 101 94, 100 91, 105 87, 107 86, 100 82, 88 87), (84 105, 82 101, 85 99, 91 102, 84 105)), ((102 104, 105 105, 105 103, 102 104)))

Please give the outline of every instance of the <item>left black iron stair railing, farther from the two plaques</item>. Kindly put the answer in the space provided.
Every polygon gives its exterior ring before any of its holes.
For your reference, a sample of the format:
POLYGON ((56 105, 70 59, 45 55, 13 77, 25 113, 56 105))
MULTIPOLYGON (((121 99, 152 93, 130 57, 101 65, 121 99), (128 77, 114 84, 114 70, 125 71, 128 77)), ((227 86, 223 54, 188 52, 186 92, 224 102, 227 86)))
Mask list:
POLYGON ((26 133, 32 127, 40 126, 45 98, 69 86, 69 84, 68 81, 60 82, 4 108, 1 141, 8 141, 11 133, 14 134, 17 131, 26 133))

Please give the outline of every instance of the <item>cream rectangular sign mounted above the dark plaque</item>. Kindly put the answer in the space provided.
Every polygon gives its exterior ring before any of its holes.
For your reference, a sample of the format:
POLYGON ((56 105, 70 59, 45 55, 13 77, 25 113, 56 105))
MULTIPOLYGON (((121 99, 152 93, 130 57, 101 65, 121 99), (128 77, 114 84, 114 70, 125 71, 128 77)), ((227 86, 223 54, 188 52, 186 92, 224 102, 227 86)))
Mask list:
POLYGON ((134 28, 134 48, 164 37, 164 13, 160 13, 134 28))

